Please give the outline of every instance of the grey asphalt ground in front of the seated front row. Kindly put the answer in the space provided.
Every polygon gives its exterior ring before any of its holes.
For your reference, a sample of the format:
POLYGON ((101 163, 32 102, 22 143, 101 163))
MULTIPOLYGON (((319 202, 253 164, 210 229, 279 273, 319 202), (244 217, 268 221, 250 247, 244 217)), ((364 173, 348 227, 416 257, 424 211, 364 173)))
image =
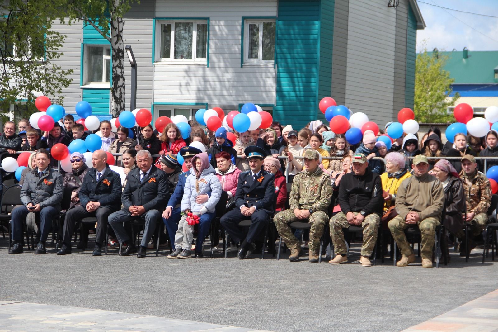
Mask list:
MULTIPOLYGON (((497 263, 371 268, 231 258, 138 259, 90 251, 7 255, 0 301, 119 311, 271 331, 400 331, 498 288, 497 263)), ((358 258, 358 248, 353 248, 358 258)), ((288 254, 284 255, 284 258, 288 254)), ((267 255, 268 257, 268 255, 267 255)), ((352 261, 352 260, 350 260, 352 261)))

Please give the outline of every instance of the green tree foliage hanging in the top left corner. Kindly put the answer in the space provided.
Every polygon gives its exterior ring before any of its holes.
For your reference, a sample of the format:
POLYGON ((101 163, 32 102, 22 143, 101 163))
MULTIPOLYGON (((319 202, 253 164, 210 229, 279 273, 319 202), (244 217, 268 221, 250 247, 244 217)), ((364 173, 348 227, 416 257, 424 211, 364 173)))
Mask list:
POLYGON ((69 86, 67 75, 51 63, 63 55, 58 51, 65 35, 51 30, 53 20, 64 17, 66 0, 0 1, 0 112, 5 117, 11 104, 25 101, 16 108, 16 117, 28 117, 36 108, 34 100, 42 93, 59 96, 52 102, 61 104, 62 89, 69 86))

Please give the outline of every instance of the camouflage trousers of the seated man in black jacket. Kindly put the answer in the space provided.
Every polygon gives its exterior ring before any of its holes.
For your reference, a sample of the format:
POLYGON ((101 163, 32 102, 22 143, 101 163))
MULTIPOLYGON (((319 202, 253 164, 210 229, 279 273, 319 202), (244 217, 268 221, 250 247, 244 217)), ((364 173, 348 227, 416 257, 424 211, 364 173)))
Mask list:
MULTIPOLYGON (((359 212, 353 212, 358 215, 359 212)), ((372 213, 365 216, 363 219, 363 245, 362 245, 362 256, 371 256, 373 249, 375 248, 375 243, 377 242, 378 224, 380 223, 380 217, 378 214, 372 213)), ((349 228, 351 224, 346 219, 346 214, 339 212, 330 219, 330 237, 332 243, 334 244, 334 250, 336 255, 346 254, 346 243, 344 241, 343 228, 349 228)))

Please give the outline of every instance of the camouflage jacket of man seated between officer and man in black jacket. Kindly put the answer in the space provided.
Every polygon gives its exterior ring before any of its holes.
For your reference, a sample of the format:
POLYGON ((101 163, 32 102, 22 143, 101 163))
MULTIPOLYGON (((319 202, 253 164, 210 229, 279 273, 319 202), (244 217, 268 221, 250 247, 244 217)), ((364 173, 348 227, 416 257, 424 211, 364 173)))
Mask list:
POLYGON ((332 198, 332 183, 330 177, 320 167, 314 172, 306 169, 294 176, 289 194, 290 209, 312 209, 327 211, 332 198))

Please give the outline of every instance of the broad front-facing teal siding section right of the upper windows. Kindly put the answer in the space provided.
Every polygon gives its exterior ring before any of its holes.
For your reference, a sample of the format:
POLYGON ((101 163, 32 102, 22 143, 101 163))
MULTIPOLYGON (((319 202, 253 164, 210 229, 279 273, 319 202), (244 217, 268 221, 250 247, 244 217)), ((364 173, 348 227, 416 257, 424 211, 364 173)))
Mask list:
POLYGON ((302 128, 318 110, 320 1, 280 0, 273 118, 302 128))

